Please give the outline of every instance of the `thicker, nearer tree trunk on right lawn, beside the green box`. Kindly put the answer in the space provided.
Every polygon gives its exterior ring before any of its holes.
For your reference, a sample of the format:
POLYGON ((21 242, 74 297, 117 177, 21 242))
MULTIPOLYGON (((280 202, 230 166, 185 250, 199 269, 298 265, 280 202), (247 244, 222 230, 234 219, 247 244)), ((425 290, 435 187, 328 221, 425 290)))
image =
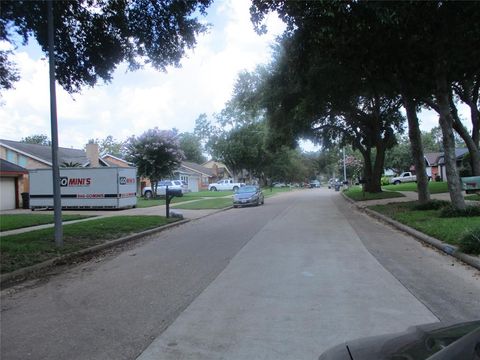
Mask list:
POLYGON ((439 73, 436 79, 438 112, 440 115, 440 128, 443 135, 443 149, 445 166, 447 170, 447 183, 452 205, 457 209, 465 209, 465 199, 462 194, 462 186, 457 170, 457 158, 455 156, 455 139, 453 136, 453 117, 449 102, 449 86, 445 73, 439 73))

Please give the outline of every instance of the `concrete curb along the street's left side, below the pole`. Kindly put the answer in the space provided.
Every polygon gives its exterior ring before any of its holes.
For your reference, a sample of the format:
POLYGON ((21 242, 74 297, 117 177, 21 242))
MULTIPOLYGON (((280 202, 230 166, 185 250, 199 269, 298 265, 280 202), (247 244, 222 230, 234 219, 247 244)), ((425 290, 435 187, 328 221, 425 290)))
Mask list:
MULTIPOLYGON (((208 216, 208 215, 205 215, 205 216, 208 216)), ((89 247, 89 248, 86 248, 86 249, 76 251, 76 252, 71 253, 71 254, 66 254, 66 255, 63 255, 63 256, 59 256, 59 257, 56 257, 54 259, 50 259, 50 260, 41 262, 39 264, 35 264, 35 265, 28 266, 28 267, 25 267, 25 268, 22 268, 22 269, 19 269, 19 270, 16 270, 16 271, 12 271, 12 272, 7 273, 7 274, 3 274, 3 275, 0 276, 0 286, 2 288, 8 287, 8 285, 15 283, 17 280, 20 280, 21 278, 26 277, 27 275, 33 274, 37 271, 44 270, 46 268, 53 267, 57 264, 61 264, 61 263, 64 263, 66 261, 77 259, 79 257, 85 256, 85 255, 88 255, 88 254, 92 254, 92 253, 95 253, 95 252, 98 252, 98 251, 101 251, 101 250, 105 250, 105 249, 108 249, 108 248, 111 248, 111 247, 114 247, 114 246, 117 246, 117 245, 120 245, 120 244, 124 244, 124 243, 139 239, 139 238, 144 237, 144 236, 152 235, 152 234, 155 234, 157 232, 161 232, 161 231, 170 229, 172 227, 183 225, 183 224, 185 224, 187 222, 190 222, 190 221, 191 220, 189 220, 189 219, 176 221, 176 222, 171 223, 171 224, 167 224, 167 225, 163 225, 163 226, 160 226, 160 227, 157 227, 157 228, 154 228, 154 229, 142 231, 140 233, 124 236, 124 237, 121 237, 119 239, 111 240, 111 241, 108 241, 108 242, 103 243, 103 244, 95 245, 95 246, 92 246, 92 247, 89 247)))

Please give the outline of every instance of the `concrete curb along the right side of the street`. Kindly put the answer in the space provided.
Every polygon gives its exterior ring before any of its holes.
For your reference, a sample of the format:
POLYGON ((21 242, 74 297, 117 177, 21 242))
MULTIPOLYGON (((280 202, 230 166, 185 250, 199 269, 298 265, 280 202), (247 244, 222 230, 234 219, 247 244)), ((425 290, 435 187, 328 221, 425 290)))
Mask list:
POLYGON ((358 210, 363 210, 367 215, 372 216, 372 217, 374 217, 378 220, 381 220, 383 222, 386 222, 386 223, 396 227, 398 230, 406 232, 407 234, 413 236, 414 238, 416 238, 416 239, 418 239, 418 240, 420 240, 424 243, 427 243, 428 245, 431 245, 431 246, 435 247, 436 249, 444 252, 445 254, 453 256, 453 257, 463 261, 464 263, 476 268, 477 270, 480 270, 480 258, 464 254, 464 253, 460 252, 458 250, 458 248, 454 245, 446 244, 443 241, 440 241, 440 240, 438 240, 434 237, 425 235, 424 233, 422 233, 418 230, 412 229, 411 227, 406 226, 404 224, 401 224, 398 221, 395 221, 395 220, 389 218, 388 216, 380 214, 380 213, 378 213, 374 210, 361 207, 355 201, 353 201, 348 196, 343 194, 343 192, 342 192, 342 196, 345 200, 347 200, 350 203, 352 203, 353 205, 355 205, 355 207, 358 210))

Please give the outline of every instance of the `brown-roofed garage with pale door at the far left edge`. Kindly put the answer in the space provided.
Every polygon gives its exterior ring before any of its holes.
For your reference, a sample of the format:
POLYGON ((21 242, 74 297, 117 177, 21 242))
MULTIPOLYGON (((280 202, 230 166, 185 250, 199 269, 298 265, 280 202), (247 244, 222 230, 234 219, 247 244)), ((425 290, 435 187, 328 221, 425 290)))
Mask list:
POLYGON ((20 206, 20 194, 28 170, 0 159, 0 210, 16 209, 20 206))

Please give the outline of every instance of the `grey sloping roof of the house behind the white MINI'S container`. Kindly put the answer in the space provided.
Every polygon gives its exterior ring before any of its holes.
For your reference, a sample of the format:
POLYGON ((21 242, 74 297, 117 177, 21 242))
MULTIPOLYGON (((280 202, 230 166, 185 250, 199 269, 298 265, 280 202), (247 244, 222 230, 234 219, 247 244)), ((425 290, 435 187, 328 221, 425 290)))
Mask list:
MULTIPOLYGON (((11 150, 15 150, 22 155, 31 157, 37 161, 43 162, 49 166, 52 166, 52 147, 38 144, 28 144, 13 140, 0 139, 0 145, 5 146, 11 150)), ((99 159, 106 164, 105 161, 99 159)), ((63 163, 79 163, 82 166, 87 166, 89 160, 85 150, 71 149, 71 148, 58 148, 58 162, 63 163)), ((106 164, 108 165, 108 164, 106 164)))

